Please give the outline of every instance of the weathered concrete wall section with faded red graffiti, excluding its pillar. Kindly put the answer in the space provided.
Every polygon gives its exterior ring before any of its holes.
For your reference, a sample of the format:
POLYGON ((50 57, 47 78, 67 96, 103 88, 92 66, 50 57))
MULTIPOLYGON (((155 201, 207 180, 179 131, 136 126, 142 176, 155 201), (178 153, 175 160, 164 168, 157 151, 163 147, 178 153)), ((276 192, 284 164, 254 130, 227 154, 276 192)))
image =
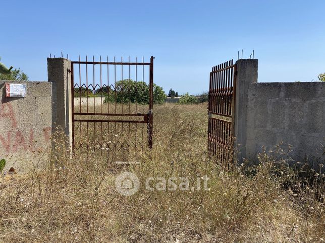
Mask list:
POLYGON ((33 154, 48 147, 52 127, 52 84, 0 80, 0 159, 5 171, 25 170, 33 154), (6 98, 5 83, 26 84, 25 98, 6 98))

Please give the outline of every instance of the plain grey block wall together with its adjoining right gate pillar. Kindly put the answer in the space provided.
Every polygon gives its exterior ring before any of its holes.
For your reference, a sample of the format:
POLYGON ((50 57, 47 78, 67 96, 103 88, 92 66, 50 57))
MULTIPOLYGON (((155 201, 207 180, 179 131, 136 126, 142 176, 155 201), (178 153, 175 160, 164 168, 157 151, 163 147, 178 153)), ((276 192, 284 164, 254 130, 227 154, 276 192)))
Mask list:
POLYGON ((235 136, 239 163, 256 162, 262 146, 291 144, 289 154, 313 168, 323 161, 325 83, 257 83, 257 60, 239 60, 235 136))

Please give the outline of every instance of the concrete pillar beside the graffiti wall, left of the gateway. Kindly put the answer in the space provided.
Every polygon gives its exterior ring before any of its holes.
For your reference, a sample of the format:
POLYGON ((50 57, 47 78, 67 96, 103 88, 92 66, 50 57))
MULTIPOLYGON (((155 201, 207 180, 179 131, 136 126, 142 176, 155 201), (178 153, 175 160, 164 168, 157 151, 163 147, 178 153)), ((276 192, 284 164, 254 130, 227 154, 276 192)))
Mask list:
POLYGON ((71 61, 47 58, 47 78, 52 83, 52 129, 61 127, 72 147, 71 61))

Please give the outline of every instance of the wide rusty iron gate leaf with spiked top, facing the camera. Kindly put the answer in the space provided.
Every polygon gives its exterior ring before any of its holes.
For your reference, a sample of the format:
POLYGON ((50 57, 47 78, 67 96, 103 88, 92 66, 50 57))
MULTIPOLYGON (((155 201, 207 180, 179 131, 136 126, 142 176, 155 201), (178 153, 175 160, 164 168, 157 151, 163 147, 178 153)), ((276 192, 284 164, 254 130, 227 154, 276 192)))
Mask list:
POLYGON ((153 59, 71 62, 73 152, 123 161, 152 148, 153 59))

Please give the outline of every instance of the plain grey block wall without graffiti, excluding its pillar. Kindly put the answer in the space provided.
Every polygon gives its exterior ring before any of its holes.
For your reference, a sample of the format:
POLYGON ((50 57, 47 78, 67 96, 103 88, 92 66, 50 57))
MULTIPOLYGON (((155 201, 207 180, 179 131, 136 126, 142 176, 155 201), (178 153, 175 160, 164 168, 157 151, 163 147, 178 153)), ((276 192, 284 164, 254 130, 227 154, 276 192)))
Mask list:
MULTIPOLYGON (((249 84, 246 114, 243 142, 246 146, 242 157, 256 160, 261 146, 271 148, 281 141, 293 145, 290 155, 297 161, 310 155, 321 157, 325 138, 325 83, 249 84)), ((308 163, 312 164, 313 159, 308 163)))

